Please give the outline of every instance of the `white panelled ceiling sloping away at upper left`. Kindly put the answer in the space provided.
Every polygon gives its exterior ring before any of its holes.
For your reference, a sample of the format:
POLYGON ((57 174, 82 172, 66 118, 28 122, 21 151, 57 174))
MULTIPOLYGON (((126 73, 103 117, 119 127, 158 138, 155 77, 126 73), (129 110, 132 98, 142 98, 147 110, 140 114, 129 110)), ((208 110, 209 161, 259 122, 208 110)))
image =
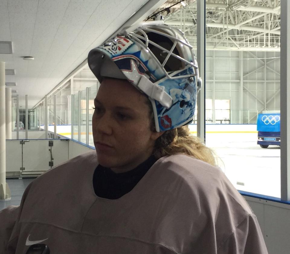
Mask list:
POLYGON ((5 77, 16 82, 20 105, 27 94, 32 108, 147 1, 0 0, 0 41, 11 41, 13 50, 0 61, 15 69, 5 77))

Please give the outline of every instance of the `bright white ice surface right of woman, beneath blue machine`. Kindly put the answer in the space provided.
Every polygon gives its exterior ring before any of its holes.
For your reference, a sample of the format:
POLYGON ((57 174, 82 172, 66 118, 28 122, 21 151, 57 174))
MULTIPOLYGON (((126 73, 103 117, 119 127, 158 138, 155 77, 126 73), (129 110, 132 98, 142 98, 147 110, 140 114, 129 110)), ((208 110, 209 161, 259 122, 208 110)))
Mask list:
POLYGON ((280 147, 257 145, 257 133, 209 132, 206 145, 220 157, 219 164, 233 185, 243 191, 280 198, 280 147))

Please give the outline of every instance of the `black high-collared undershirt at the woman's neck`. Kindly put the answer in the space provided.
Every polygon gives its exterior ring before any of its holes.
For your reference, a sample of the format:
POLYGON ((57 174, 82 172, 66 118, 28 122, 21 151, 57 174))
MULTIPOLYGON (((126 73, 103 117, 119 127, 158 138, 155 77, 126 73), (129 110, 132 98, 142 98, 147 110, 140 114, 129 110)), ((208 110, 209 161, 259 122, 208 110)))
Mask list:
POLYGON ((93 185, 96 195, 105 199, 120 198, 135 187, 156 160, 157 159, 151 155, 135 169, 124 173, 115 173, 110 168, 98 165, 93 176, 93 185))

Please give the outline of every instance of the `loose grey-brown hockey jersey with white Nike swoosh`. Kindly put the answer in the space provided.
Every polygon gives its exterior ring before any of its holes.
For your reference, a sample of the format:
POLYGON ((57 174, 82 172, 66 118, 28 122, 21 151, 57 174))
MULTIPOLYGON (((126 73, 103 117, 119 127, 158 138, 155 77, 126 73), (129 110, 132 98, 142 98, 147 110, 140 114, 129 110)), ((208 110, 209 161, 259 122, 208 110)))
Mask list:
POLYGON ((186 155, 163 157, 119 199, 95 195, 96 152, 35 179, 0 212, 0 253, 267 254, 256 216, 223 172, 186 155))

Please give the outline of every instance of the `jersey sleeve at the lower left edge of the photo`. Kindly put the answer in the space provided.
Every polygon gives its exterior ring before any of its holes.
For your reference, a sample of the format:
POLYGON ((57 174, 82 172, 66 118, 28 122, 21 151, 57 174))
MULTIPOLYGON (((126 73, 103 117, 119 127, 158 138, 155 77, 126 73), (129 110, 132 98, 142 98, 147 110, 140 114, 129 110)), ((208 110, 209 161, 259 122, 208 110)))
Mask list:
POLYGON ((0 253, 6 248, 19 214, 19 206, 8 206, 0 211, 0 253))

